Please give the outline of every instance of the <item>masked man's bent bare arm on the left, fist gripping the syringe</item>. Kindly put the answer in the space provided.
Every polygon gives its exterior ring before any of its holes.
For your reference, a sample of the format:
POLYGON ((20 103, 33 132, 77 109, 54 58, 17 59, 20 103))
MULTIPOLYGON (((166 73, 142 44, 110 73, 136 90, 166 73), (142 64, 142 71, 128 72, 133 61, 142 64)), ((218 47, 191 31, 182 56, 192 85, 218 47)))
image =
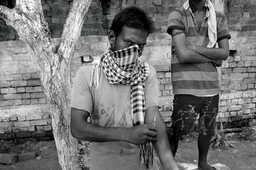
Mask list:
POLYGON ((70 130, 73 137, 91 142, 125 141, 131 144, 145 144, 157 140, 156 128, 153 125, 100 127, 87 122, 89 115, 86 111, 71 108, 70 130))

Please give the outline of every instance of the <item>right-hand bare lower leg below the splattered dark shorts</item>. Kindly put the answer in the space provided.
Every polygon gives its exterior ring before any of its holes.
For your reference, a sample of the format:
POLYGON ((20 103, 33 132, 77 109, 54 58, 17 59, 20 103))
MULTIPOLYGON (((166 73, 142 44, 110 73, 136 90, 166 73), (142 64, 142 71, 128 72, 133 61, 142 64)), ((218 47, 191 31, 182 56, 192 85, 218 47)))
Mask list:
POLYGON ((199 133, 197 145, 199 150, 198 169, 200 170, 214 170, 214 168, 207 163, 207 153, 209 150, 210 141, 211 136, 199 133))

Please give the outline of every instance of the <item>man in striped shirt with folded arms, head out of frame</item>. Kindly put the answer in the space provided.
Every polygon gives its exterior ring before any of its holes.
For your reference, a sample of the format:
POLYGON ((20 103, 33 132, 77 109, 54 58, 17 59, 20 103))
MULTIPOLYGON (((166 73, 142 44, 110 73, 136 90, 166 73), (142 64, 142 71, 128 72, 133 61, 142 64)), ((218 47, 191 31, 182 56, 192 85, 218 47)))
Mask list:
POLYGON ((223 13, 209 0, 188 0, 169 15, 172 35, 173 115, 169 143, 175 155, 199 114, 199 170, 214 170, 207 164, 207 152, 214 135, 219 107, 219 81, 216 67, 229 55, 230 34, 223 13), (218 42, 219 48, 215 48, 218 42))

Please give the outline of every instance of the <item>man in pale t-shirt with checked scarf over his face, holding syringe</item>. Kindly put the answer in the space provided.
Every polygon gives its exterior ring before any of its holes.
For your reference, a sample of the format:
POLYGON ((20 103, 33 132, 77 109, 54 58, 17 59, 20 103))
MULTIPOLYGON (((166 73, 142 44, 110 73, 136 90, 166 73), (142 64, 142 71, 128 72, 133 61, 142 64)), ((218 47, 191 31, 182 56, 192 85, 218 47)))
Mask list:
POLYGON ((115 15, 110 29, 110 48, 74 79, 71 134, 92 142, 90 170, 157 170, 152 145, 163 168, 177 170, 158 110, 156 71, 138 60, 152 19, 128 7, 115 15))

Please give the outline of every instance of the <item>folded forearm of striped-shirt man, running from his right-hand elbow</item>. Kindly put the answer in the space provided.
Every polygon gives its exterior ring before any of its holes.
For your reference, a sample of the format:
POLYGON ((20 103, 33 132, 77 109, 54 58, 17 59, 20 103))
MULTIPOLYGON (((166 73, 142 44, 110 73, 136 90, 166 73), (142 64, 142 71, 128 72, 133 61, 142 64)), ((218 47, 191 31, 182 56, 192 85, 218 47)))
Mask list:
POLYGON ((229 51, 223 48, 207 48, 207 47, 201 47, 198 45, 193 45, 193 51, 197 52, 201 55, 206 56, 210 59, 220 59, 220 60, 226 60, 229 55, 229 51))

